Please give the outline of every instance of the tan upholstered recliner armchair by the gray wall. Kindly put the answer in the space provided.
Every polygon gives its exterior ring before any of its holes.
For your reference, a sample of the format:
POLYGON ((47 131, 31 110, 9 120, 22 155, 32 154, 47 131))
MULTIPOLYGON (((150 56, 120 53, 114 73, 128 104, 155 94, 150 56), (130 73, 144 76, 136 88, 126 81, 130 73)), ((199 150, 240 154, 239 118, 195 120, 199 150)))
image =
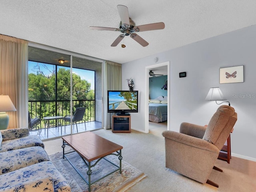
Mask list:
POLYGON ((212 116, 208 127, 182 123, 180 132, 164 131, 166 168, 201 183, 218 187, 208 180, 219 152, 237 120, 234 108, 220 106, 212 116))

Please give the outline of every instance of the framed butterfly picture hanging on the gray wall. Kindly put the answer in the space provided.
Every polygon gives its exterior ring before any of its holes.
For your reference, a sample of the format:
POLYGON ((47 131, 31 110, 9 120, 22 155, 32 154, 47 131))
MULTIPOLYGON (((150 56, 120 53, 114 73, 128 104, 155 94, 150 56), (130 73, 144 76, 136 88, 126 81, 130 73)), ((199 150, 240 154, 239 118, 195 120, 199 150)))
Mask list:
POLYGON ((220 83, 244 82, 244 66, 220 68, 220 83))

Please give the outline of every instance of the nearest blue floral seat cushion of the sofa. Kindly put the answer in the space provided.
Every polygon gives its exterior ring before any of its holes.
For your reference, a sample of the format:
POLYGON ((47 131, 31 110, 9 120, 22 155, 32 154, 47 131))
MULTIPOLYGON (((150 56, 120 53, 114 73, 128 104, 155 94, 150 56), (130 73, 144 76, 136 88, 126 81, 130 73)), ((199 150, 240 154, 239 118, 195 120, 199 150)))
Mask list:
POLYGON ((42 183, 43 186, 46 186, 46 191, 50 192, 48 190, 50 184, 47 181, 43 182, 42 178, 53 178, 54 192, 71 192, 71 188, 65 178, 50 161, 40 162, 0 175, 0 191, 40 192, 44 190, 37 190, 36 187, 42 183), (28 185, 31 186, 32 190, 26 190, 28 185))

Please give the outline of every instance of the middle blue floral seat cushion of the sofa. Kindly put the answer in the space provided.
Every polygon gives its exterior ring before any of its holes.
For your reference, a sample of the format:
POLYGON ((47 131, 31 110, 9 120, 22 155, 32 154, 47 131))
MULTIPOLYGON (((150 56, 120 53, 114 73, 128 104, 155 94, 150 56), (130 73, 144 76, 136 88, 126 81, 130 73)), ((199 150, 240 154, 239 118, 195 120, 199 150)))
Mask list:
POLYGON ((43 161, 49 161, 49 157, 39 146, 2 152, 0 153, 0 175, 43 161))

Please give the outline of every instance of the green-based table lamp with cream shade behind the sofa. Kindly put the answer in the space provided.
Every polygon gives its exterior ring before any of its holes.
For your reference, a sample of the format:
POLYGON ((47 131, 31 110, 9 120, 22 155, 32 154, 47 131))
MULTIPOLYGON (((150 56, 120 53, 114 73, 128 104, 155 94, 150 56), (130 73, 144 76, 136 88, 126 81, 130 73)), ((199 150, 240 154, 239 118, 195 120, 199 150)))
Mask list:
POLYGON ((0 95, 0 130, 7 129, 9 124, 9 116, 6 111, 16 111, 16 108, 8 95, 0 95))

